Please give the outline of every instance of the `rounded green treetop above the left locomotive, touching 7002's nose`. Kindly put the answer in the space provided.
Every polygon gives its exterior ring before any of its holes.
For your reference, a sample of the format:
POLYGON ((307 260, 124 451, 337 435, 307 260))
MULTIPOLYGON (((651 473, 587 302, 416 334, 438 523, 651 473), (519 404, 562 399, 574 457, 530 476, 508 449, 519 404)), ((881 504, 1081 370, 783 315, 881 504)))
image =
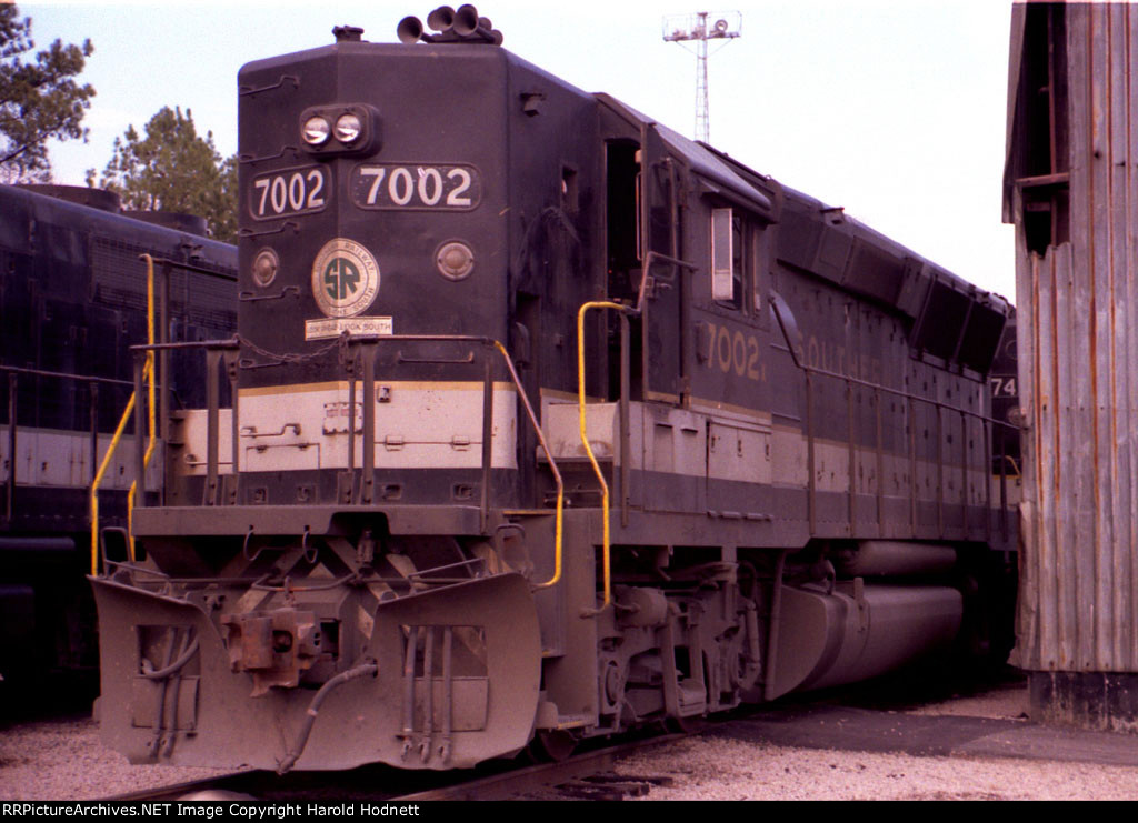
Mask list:
POLYGON ((222 160, 213 132, 198 136, 190 109, 166 106, 146 124, 145 138, 133 125, 115 138, 99 185, 117 192, 125 208, 199 215, 215 239, 237 236, 237 158, 222 160))

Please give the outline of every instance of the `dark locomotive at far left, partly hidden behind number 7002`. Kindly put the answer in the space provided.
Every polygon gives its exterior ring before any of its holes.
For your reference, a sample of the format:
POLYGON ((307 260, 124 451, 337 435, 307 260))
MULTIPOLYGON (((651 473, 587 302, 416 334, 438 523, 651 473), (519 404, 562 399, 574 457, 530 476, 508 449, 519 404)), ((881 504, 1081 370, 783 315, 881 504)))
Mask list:
MULTIPOLYGON (((131 343, 147 339, 143 253, 170 267, 168 334, 237 324, 237 250, 184 215, 130 215, 109 192, 0 185, 0 674, 96 671, 89 487, 131 393, 131 343), (146 222, 140 218, 150 218, 146 222), (154 223, 154 219, 166 223, 154 223), (173 225, 171 225, 173 224, 173 225)), ((201 405, 200 358, 175 361, 175 402, 201 405)), ((102 523, 126 524, 132 446, 108 465, 102 523)), ((146 488, 157 489, 150 472, 146 488)), ((92 679, 93 682, 93 679, 92 679)), ((91 687, 86 687, 90 697, 91 687)), ((42 692, 41 692, 42 693, 42 692)))

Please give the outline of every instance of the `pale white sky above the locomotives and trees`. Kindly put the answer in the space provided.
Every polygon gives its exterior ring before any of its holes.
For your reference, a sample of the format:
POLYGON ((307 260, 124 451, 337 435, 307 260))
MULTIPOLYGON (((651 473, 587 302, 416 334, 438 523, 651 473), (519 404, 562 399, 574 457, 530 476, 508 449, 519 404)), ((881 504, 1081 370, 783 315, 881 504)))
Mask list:
MULTIPOLYGON (((22 2, 38 45, 90 38, 97 91, 86 144, 53 143, 58 183, 101 172, 114 139, 163 106, 190 109, 223 156, 237 151, 237 72, 325 45, 336 25, 395 42, 432 5, 22 2)), ((962 277, 1014 298, 1013 230, 1000 222, 1012 5, 1007 0, 632 0, 479 6, 504 48, 578 88, 604 91, 685 135, 696 59, 662 39, 674 14, 739 10, 742 36, 711 48, 710 142, 871 225, 962 277)))

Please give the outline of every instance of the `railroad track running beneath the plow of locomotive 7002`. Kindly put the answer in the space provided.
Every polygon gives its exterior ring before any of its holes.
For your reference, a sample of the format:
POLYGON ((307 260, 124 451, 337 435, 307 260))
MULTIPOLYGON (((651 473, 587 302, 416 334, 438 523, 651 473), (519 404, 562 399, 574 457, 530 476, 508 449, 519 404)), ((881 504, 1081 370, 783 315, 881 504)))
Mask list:
POLYGON ((667 778, 618 778, 618 757, 650 746, 663 746, 695 731, 638 735, 582 751, 560 763, 493 762, 462 772, 407 772, 389 766, 365 766, 351 772, 236 772, 106 798, 113 801, 166 803, 174 800, 263 800, 271 803, 419 800, 504 800, 512 798, 576 797, 619 800, 648 793, 667 778), (409 791, 410 789, 410 791, 409 791))

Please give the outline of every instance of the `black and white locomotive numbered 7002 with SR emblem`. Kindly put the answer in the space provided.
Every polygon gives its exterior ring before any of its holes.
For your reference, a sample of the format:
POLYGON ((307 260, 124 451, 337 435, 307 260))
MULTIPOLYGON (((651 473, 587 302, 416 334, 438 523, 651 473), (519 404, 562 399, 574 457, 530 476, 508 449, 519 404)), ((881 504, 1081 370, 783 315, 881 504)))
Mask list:
POLYGON ((1006 652, 1009 306, 428 24, 240 72, 238 334, 92 576, 104 741, 459 768, 1006 652))

